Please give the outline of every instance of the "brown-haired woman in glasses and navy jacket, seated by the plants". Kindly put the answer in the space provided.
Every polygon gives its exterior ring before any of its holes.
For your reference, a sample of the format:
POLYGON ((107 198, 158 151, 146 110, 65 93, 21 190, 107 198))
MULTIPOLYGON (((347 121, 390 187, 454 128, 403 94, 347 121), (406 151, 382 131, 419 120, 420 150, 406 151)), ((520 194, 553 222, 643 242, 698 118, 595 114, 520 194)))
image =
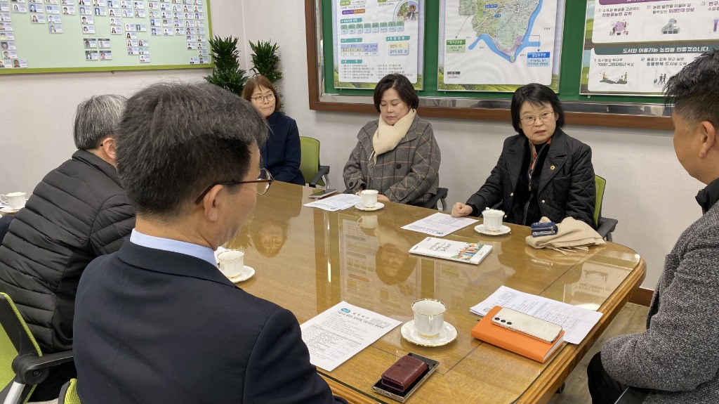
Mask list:
POLYGON ((300 171, 302 152, 297 122, 280 112, 282 103, 275 86, 265 76, 255 75, 244 83, 242 98, 260 111, 270 125, 267 142, 260 149, 262 165, 275 180, 305 185, 300 171))

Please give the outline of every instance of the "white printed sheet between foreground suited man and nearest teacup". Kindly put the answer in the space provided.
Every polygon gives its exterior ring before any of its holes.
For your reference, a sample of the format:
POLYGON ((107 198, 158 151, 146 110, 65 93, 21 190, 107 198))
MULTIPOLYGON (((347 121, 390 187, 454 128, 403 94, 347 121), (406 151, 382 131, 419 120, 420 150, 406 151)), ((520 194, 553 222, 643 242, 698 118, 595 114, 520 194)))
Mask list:
POLYGON ((302 340, 311 364, 331 372, 400 323, 342 301, 303 323, 302 340))

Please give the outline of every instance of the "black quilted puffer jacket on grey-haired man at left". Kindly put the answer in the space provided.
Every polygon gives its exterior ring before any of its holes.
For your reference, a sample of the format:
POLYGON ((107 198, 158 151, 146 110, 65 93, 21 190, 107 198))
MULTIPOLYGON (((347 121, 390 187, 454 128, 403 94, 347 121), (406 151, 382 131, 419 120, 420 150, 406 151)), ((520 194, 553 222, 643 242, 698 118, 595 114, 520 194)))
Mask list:
POLYGON ((85 150, 45 175, 17 213, 0 246, 0 290, 43 352, 72 348, 80 275, 117 251, 134 223, 115 168, 85 150))

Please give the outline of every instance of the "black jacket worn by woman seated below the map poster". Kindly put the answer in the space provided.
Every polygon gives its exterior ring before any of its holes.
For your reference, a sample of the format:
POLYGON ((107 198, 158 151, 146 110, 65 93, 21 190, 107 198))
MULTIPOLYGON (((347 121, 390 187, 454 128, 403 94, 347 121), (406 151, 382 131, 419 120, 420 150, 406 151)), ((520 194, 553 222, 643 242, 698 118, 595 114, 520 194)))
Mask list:
MULTIPOLYGON (((510 212, 525 157, 527 138, 523 134, 510 136, 504 141, 502 155, 482 188, 470 196, 472 216, 485 208, 501 203, 498 208, 510 212)), ((593 224, 596 189, 592 149, 561 129, 557 129, 549 145, 536 190, 541 216, 559 223, 567 216, 593 224)), ((509 223, 521 224, 523 218, 506 217, 509 223)))

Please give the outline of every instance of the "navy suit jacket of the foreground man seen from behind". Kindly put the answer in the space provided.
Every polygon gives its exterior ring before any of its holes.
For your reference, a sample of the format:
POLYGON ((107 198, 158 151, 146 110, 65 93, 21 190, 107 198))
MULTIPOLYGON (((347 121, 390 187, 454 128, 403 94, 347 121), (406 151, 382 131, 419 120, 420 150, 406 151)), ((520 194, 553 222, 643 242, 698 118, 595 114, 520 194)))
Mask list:
POLYGON ((293 314, 209 262, 126 242, 75 302, 83 403, 347 403, 309 362, 293 314))

